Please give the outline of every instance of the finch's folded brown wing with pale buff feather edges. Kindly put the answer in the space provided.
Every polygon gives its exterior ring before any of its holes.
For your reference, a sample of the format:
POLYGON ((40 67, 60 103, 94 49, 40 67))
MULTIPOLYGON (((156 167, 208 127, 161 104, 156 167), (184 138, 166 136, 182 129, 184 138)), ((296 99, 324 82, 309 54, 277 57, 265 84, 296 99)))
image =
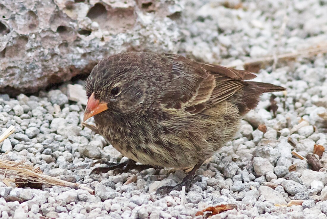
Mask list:
POLYGON ((248 71, 198 63, 181 55, 167 54, 171 61, 170 89, 163 89, 167 108, 199 113, 234 95, 256 76, 248 71))

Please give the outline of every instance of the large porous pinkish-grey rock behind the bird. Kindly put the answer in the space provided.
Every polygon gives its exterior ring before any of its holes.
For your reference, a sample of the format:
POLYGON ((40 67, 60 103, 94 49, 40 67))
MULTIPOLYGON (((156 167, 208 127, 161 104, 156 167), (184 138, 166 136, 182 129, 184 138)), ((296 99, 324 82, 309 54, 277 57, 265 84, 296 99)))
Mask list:
POLYGON ((178 0, 2 0, 0 91, 33 93, 122 51, 177 52, 181 10, 178 0))

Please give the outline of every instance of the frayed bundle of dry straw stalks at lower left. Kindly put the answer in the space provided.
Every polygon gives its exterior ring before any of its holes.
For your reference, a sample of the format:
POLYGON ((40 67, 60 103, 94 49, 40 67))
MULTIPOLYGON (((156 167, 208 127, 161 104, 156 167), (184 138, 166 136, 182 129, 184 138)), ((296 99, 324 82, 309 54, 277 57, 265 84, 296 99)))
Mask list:
POLYGON ((35 168, 30 164, 25 164, 26 160, 22 160, 18 163, 7 160, 0 160, 0 175, 4 177, 7 182, 14 182, 16 185, 22 187, 24 185, 48 185, 48 186, 64 186, 74 189, 84 189, 91 194, 95 194, 95 191, 78 183, 67 182, 57 179, 55 177, 43 175, 39 168, 35 168))

